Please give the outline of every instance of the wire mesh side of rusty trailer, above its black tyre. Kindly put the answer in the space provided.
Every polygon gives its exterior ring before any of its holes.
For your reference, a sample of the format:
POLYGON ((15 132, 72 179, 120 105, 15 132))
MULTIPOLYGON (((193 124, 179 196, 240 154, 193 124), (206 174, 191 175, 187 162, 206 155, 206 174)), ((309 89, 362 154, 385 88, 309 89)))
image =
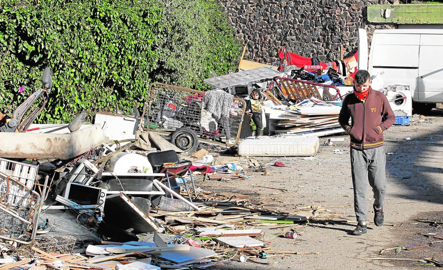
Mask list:
POLYGON ((205 105, 208 104, 205 103, 209 102, 206 93, 167 84, 153 84, 145 103, 142 128, 163 133, 187 128, 199 140, 219 144, 236 143, 240 137, 245 101, 234 98, 232 104, 222 108, 229 110, 227 117, 215 116, 206 109, 205 105))

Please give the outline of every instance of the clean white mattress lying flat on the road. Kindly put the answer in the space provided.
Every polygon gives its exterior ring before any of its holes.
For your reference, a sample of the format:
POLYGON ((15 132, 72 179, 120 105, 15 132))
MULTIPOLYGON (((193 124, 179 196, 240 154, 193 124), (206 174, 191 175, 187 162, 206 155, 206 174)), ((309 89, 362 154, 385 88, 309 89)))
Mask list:
POLYGON ((315 156, 317 151, 318 137, 250 137, 238 145, 240 156, 315 156))

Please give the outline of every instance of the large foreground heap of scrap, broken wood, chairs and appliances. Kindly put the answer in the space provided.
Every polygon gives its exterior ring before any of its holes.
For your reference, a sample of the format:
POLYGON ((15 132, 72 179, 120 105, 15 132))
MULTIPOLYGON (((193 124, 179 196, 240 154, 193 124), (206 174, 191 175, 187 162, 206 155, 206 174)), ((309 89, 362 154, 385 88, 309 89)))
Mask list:
POLYGON ((308 219, 336 217, 322 206, 284 213, 247 195, 196 187, 190 160, 210 156, 206 150, 179 160, 174 150, 145 154, 120 143, 71 161, 0 160, 0 269, 205 269, 316 254, 276 250, 276 236, 254 227, 284 228, 276 232, 284 235, 308 219), (54 177, 43 179, 54 164, 54 177))

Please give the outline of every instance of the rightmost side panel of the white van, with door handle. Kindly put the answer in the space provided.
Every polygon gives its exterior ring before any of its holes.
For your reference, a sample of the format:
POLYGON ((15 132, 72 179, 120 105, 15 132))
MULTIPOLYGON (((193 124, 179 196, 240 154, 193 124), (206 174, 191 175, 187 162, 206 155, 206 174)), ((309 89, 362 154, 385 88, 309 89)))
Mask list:
POLYGON ((443 34, 421 34, 419 100, 443 102, 443 34))

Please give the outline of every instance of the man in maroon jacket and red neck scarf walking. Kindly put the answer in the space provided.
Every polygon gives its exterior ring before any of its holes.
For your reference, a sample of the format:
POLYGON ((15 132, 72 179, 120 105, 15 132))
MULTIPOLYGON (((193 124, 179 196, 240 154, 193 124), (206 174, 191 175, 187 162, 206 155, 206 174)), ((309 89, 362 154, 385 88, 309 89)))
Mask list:
POLYGON ((366 179, 374 192, 374 223, 383 225, 383 203, 386 191, 386 156, 383 131, 395 122, 386 96, 371 89, 369 72, 355 74, 354 93, 343 100, 338 122, 350 136, 352 182, 354 184, 354 210, 357 228, 352 232, 367 232, 366 179), (349 125, 351 118, 351 125, 349 125))

